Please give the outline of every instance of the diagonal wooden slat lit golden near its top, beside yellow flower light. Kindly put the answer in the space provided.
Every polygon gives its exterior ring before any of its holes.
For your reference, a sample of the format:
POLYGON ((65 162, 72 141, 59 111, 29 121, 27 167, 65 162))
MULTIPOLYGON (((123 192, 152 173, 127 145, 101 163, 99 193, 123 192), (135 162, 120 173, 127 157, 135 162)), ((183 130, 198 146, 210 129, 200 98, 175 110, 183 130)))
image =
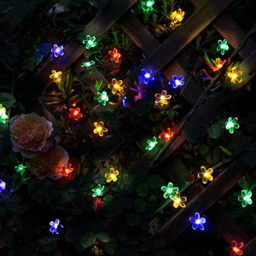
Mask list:
POLYGON ((216 0, 207 2, 201 6, 193 15, 189 17, 180 26, 172 32, 169 38, 163 44, 154 50, 129 76, 125 79, 125 84, 130 84, 137 76, 141 74, 141 70, 152 69, 153 75, 159 73, 163 67, 172 61, 172 59, 199 33, 201 33, 230 3, 232 0, 216 0))

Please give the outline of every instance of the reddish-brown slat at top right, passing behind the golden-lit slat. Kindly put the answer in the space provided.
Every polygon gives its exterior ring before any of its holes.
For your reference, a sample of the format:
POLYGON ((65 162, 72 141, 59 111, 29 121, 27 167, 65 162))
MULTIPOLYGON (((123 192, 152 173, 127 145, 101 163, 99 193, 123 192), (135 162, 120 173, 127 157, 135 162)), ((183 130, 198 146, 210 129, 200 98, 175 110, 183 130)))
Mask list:
MULTIPOLYGON (((202 4, 207 2, 206 0, 190 1, 196 8, 200 8, 202 4)), ((230 18, 230 15, 218 16, 218 18, 212 22, 212 26, 230 43, 234 49, 238 47, 242 39, 246 36, 246 33, 241 30, 240 26, 238 26, 232 18, 230 18)), ((246 59, 247 56, 255 49, 256 44, 253 43, 252 39, 249 39, 246 46, 239 52, 239 55, 241 55, 243 59, 246 59)))

